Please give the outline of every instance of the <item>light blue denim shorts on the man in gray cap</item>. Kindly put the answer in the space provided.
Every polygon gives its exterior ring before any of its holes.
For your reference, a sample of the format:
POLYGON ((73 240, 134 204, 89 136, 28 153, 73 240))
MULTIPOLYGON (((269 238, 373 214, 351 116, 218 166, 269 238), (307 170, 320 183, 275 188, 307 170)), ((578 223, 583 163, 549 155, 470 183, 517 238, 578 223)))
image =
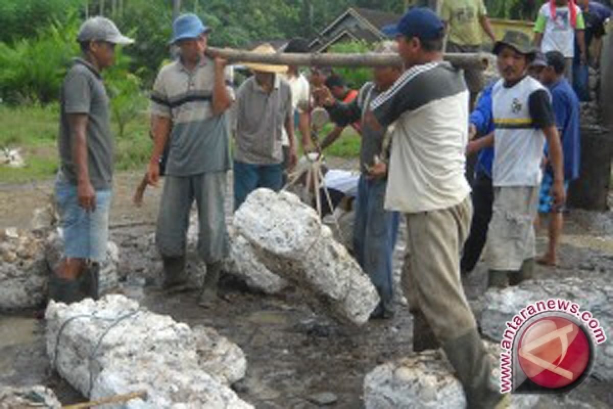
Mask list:
POLYGON ((96 191, 96 210, 86 212, 78 204, 77 186, 60 170, 55 199, 64 232, 64 256, 102 262, 107 257, 111 190, 96 191))

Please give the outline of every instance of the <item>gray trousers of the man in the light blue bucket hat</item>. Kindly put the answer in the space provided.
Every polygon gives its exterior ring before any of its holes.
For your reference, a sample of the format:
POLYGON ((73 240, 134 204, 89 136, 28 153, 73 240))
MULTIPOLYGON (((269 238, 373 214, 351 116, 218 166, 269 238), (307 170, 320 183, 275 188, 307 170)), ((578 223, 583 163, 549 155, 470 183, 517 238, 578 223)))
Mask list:
POLYGON ((204 262, 225 258, 229 250, 224 198, 226 172, 186 177, 166 176, 159 208, 156 243, 164 257, 184 256, 189 211, 194 200, 198 211, 198 254, 204 262))

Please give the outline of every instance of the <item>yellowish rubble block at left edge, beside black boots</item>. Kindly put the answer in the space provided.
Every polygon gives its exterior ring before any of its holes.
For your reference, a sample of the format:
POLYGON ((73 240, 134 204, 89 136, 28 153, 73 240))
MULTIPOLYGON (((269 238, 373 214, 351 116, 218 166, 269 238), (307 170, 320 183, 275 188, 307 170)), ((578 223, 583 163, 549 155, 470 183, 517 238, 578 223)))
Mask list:
POLYGON ((0 311, 41 304, 47 281, 44 241, 29 231, 0 231, 0 311))

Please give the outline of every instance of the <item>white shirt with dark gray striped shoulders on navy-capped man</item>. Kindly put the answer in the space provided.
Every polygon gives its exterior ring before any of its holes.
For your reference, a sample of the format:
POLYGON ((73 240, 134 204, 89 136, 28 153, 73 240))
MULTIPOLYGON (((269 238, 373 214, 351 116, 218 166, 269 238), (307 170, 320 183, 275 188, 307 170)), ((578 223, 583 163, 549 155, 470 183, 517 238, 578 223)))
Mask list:
POLYGON ((461 70, 438 61, 411 67, 370 108, 383 126, 395 122, 387 210, 427 212, 466 199, 468 90, 461 70))

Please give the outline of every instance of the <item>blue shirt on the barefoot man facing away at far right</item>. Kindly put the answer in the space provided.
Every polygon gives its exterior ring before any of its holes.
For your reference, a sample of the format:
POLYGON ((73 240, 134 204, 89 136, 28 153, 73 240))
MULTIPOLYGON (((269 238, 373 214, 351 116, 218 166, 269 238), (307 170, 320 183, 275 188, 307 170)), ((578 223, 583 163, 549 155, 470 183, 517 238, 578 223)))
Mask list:
POLYGON ((555 123, 562 139, 564 178, 571 181, 579 177, 579 164, 581 163, 579 98, 566 78, 560 78, 547 88, 551 94, 552 105, 554 105, 555 123))

